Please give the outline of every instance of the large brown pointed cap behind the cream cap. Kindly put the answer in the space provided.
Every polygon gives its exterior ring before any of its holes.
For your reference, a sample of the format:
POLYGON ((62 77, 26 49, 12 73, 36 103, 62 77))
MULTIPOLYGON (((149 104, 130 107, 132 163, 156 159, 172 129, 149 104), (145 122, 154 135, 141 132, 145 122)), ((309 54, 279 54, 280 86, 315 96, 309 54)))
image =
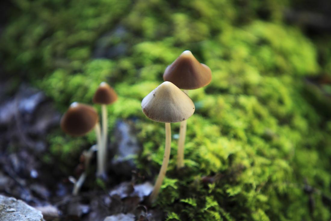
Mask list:
POLYGON ((166 68, 163 79, 181 89, 191 90, 208 85, 212 81, 212 71, 200 63, 191 51, 184 51, 166 68))

